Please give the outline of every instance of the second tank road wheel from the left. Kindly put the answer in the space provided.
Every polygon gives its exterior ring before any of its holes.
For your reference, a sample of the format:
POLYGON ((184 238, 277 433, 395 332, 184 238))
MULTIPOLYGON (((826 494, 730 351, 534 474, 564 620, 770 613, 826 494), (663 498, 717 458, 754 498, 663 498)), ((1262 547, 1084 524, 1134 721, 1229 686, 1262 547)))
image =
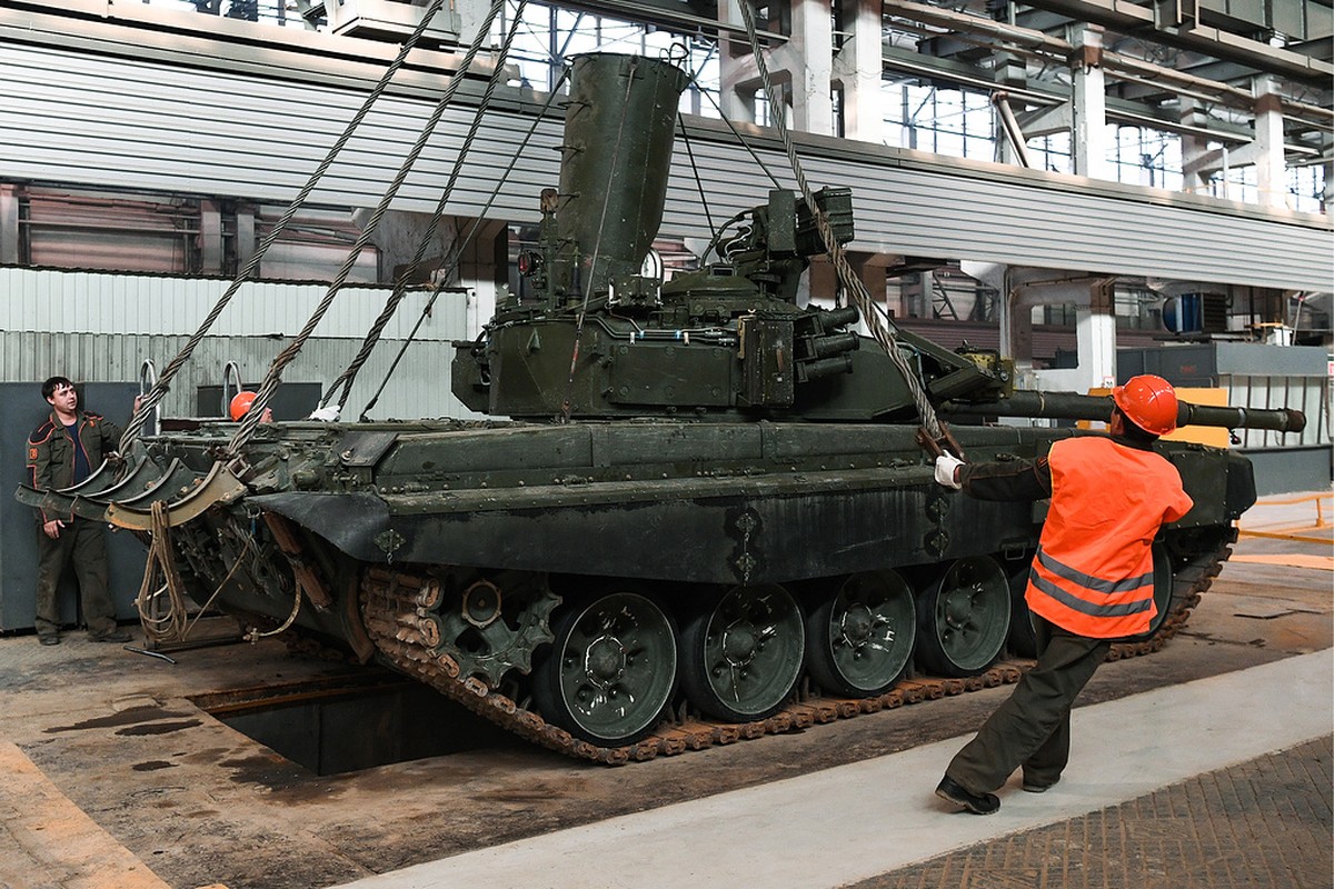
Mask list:
POLYGON ((731 722, 767 718, 804 666, 802 610, 776 584, 734 586, 687 624, 680 657, 682 688, 700 710, 731 722))

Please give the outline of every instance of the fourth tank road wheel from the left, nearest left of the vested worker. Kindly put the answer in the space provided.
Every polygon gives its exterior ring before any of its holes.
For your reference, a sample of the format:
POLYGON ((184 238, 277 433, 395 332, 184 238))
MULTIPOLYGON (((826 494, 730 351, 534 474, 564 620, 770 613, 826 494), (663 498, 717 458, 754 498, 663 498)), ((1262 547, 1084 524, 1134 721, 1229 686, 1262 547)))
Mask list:
POLYGON ((1010 632, 1010 584, 990 556, 946 568, 918 598, 918 664, 936 676, 976 676, 1010 632))

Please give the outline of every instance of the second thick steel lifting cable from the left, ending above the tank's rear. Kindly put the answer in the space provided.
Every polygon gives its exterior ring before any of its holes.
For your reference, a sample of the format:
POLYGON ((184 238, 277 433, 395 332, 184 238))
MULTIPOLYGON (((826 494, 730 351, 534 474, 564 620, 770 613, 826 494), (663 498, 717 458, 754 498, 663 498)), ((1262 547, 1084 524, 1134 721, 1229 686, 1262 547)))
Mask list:
POLYGON ((430 141, 436 125, 444 116, 446 108, 448 108, 455 93, 459 91, 459 87, 463 84, 464 75, 472 67, 472 61, 476 59, 478 51, 482 48, 487 35, 491 33, 491 25, 495 23, 496 16, 500 15, 500 9, 504 7, 504 3, 506 0, 492 1, 486 19, 478 28, 476 39, 472 41, 472 45, 468 47, 468 52, 464 55, 463 61, 455 69, 454 75, 451 75, 450 83, 444 88, 444 95, 440 96, 440 101, 435 104, 426 127, 423 127, 422 132, 418 133, 416 141, 414 143, 411 151, 408 151, 407 157, 404 157, 403 163, 399 165, 399 171, 395 173, 394 181, 390 183, 390 188, 380 196, 380 203, 376 204, 375 211, 371 213, 370 220, 367 220, 367 224, 358 236, 356 243, 352 244, 352 249, 348 251, 347 257, 343 260, 343 267, 338 271, 338 275, 329 284, 328 291, 324 293, 324 299, 320 300, 315 312, 311 313, 311 317, 305 321, 305 327, 301 328, 300 333, 297 333, 287 348, 279 352, 277 357, 273 359, 273 363, 268 368, 268 373, 264 375, 264 381, 259 385, 259 389, 255 393, 255 401, 251 404, 251 409, 245 412, 244 417, 241 417, 240 428, 227 444, 224 454, 227 462, 239 462, 240 450, 245 446, 245 443, 249 441, 255 429, 259 427, 264 415, 264 407, 268 404, 269 399, 273 397, 273 393, 281 383, 283 371, 296 359, 301 347, 305 345, 305 340, 309 339, 311 333, 315 332, 315 328, 319 327, 319 323, 324 319, 329 307, 334 305, 334 299, 338 296, 343 284, 347 283, 348 276, 352 273, 352 268, 356 265, 358 257, 362 255, 362 251, 366 249, 366 245, 371 243, 371 236, 375 233, 376 227, 380 224, 384 213, 390 209, 390 204, 398 196, 403 183, 407 181, 408 173, 412 171, 412 167, 416 165, 418 157, 426 149, 427 141, 430 141))

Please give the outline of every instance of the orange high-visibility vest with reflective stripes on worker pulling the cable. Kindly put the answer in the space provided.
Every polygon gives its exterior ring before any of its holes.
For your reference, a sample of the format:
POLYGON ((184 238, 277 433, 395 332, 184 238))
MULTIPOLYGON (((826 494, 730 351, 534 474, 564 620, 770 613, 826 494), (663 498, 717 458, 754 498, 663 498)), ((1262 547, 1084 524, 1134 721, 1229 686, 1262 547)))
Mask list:
POLYGON ((1177 468, 1102 436, 1051 445, 1051 508, 1025 598, 1033 613, 1091 638, 1149 630, 1153 542, 1194 505, 1177 468))

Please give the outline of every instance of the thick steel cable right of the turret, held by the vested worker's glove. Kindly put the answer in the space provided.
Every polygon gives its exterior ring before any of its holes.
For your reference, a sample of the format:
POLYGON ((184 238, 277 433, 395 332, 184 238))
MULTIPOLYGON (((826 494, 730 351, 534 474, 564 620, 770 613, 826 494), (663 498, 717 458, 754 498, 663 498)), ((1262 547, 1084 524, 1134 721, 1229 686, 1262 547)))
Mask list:
POLYGON ((943 435, 940 428, 940 421, 935 416, 935 408, 931 405, 927 397, 926 389, 922 381, 918 380, 916 373, 912 371, 912 365, 899 351, 898 340, 890 328, 884 324, 879 315, 875 312, 875 303, 871 295, 866 291, 866 285, 862 284, 862 279, 852 272, 852 267, 847 263, 847 256, 844 255, 843 245, 838 243, 834 237, 834 229, 830 227, 828 217, 824 212, 815 204, 815 196, 811 192, 810 183, 806 181, 806 173, 802 171, 800 160, 796 157, 796 148, 792 144, 792 137, 787 132, 787 123, 783 120, 783 103, 782 96, 775 93, 774 85, 768 77, 768 65, 764 63, 764 53, 759 45, 759 35, 755 29, 755 13, 750 7, 750 0, 739 0, 738 5, 742 11, 742 17, 746 20, 746 36, 750 39, 751 55, 755 59, 755 67, 759 71, 760 83, 764 87, 764 96, 768 99, 768 107, 772 109, 770 120, 774 128, 778 131, 779 137, 783 140, 783 149, 787 152, 787 160, 792 167, 792 175, 796 176, 796 184, 802 189, 802 197, 806 200, 806 207, 810 208, 811 215, 815 217, 815 224, 820 231, 820 237, 824 239, 824 248, 828 251, 830 260, 834 263, 834 268, 838 272, 839 281, 843 283, 852 296, 852 301, 860 311, 862 317, 866 320, 866 327, 871 331, 871 336, 875 341, 880 344, 886 355, 890 356, 890 361, 903 376, 904 383, 907 383, 908 391, 912 393, 912 401, 916 405, 918 415, 922 417, 922 424, 926 427, 927 433, 932 439, 939 439, 943 435))

